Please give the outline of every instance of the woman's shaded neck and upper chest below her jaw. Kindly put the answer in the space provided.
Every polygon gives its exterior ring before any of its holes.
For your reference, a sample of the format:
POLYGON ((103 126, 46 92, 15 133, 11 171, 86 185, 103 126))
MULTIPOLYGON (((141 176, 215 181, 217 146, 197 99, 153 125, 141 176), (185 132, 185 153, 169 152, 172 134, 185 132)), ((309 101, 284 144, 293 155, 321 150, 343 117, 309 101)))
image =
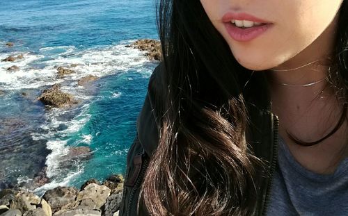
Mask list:
POLYGON ((303 142, 315 142, 330 133, 340 119, 342 104, 329 83, 323 80, 331 69, 336 23, 335 19, 315 42, 294 58, 265 72, 271 92, 271 109, 280 120, 280 135, 296 160, 318 173, 333 172, 338 159, 342 158, 340 155, 348 155, 348 150, 342 151, 348 142, 347 122, 313 147, 301 147, 287 134, 303 142), (312 84, 306 85, 308 83, 312 84))

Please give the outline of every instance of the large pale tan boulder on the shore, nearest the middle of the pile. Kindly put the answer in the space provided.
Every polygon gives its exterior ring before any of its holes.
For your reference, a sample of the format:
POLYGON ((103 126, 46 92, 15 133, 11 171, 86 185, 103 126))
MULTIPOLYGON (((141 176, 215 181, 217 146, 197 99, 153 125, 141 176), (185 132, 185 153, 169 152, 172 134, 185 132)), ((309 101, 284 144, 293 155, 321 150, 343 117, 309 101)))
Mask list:
POLYGON ((100 209, 104 206, 111 190, 104 185, 90 183, 86 188, 77 194, 74 208, 100 209))

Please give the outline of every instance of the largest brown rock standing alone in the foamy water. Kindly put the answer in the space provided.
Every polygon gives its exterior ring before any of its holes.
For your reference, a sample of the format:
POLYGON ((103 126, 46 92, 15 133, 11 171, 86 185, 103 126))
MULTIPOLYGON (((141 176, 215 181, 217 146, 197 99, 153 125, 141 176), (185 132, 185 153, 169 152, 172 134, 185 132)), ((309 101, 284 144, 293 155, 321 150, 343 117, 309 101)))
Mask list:
POLYGON ((42 103, 49 106, 61 108, 63 106, 76 104, 77 101, 72 97, 71 94, 61 92, 59 88, 61 85, 54 84, 52 88, 44 90, 38 98, 42 103))

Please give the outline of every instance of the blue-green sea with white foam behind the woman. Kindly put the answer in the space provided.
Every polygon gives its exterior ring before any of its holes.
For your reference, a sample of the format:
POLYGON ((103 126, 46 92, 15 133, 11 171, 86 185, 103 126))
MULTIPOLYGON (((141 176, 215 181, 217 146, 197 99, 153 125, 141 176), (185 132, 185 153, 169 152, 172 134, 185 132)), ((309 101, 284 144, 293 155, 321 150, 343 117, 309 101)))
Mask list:
POLYGON ((49 181, 33 188, 38 194, 125 174, 158 65, 125 45, 158 39, 155 0, 3 0, 0 17, 0 60, 24 56, 0 62, 0 189, 30 185, 43 167, 49 181), (8 72, 13 65, 19 70, 8 72), (75 73, 56 77, 57 67, 72 65, 75 73), (77 85, 88 75, 100 78, 77 85), (38 97, 56 83, 77 106, 45 108, 38 97), (67 159, 72 147, 89 147, 90 157, 67 159))

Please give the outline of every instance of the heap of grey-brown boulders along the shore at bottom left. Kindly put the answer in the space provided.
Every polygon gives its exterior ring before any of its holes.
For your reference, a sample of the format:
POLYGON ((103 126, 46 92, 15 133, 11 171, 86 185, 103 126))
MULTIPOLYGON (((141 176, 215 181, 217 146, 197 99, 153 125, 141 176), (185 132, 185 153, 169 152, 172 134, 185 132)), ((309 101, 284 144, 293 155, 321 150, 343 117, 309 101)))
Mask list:
POLYGON ((57 187, 42 197, 32 192, 4 189, 0 191, 1 216, 117 216, 122 200, 124 178, 117 174, 103 183, 92 178, 80 190, 57 187))

